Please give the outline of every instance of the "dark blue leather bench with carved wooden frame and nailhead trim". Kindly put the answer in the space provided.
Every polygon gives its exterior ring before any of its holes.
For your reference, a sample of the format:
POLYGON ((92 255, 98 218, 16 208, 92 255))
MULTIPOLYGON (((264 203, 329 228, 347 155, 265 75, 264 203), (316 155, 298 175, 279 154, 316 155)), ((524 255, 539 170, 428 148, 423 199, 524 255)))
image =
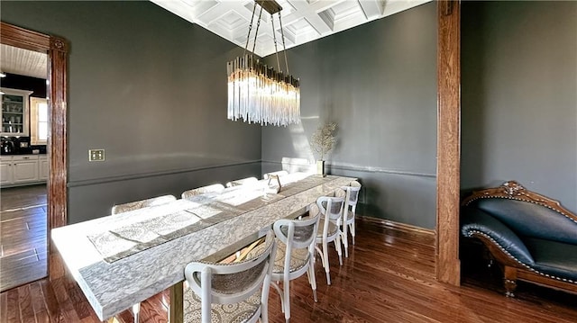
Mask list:
POLYGON ((461 234, 488 248, 507 296, 517 280, 577 293, 577 215, 559 202, 515 181, 475 192, 462 203, 461 234))

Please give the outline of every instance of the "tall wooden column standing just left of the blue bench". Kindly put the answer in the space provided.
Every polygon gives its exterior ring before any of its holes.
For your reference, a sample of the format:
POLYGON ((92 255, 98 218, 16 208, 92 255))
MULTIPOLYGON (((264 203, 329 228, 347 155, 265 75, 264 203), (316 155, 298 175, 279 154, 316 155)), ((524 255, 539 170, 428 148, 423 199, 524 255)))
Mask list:
POLYGON ((461 283, 461 4, 437 2, 436 279, 461 283))

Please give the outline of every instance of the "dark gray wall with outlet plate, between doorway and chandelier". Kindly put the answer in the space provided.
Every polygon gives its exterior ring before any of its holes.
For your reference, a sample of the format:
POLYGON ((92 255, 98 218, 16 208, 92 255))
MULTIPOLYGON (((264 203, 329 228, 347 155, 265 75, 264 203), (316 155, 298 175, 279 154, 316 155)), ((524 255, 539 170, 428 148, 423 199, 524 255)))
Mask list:
POLYGON ((3 22, 69 40, 70 223, 259 175, 261 127, 226 120, 225 62, 242 49, 148 1, 1 9, 3 22), (89 148, 105 162, 89 163, 89 148))

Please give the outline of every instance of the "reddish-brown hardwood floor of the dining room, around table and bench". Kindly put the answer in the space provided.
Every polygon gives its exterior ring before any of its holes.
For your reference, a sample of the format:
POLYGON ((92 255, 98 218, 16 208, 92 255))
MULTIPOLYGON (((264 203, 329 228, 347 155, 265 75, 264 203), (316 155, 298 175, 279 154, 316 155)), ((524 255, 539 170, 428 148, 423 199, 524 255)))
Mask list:
MULTIPOLYGON (((463 285, 435 281, 435 238, 358 221, 356 246, 343 266, 330 254, 333 284, 316 262, 318 302, 305 276, 291 288, 292 322, 577 322, 577 295, 519 283, 517 298, 504 296, 500 277, 481 256, 463 264, 463 285)), ((0 322, 97 322, 83 293, 57 262, 56 279, 0 294, 0 322)), ((142 303, 141 322, 166 322, 169 296, 142 303)), ((270 292, 270 322, 284 322, 279 296, 270 292)), ((117 318, 132 322, 130 311, 117 318)))

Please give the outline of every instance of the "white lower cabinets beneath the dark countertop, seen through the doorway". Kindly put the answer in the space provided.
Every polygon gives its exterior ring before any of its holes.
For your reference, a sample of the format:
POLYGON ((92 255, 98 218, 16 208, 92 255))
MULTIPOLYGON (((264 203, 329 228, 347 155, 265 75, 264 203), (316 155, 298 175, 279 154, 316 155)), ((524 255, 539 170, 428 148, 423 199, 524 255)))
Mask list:
POLYGON ((45 183, 48 178, 48 159, 46 156, 40 158, 39 155, 2 156, 0 169, 0 184, 3 187, 45 183))

